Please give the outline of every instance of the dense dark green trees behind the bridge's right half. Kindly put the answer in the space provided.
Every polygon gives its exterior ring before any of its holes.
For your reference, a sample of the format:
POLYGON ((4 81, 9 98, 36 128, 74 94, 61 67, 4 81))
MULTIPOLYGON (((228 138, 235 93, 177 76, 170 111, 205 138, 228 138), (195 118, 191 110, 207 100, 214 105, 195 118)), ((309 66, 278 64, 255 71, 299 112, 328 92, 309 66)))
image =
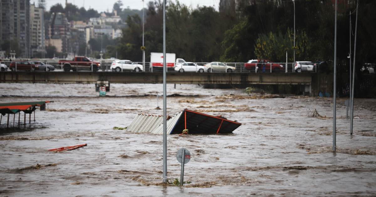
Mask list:
MULTIPOLYGON (((356 9, 356 0, 338 1, 338 62, 348 61, 350 11, 356 9)), ((239 1, 232 8, 189 8, 177 2, 167 6, 167 53, 193 62, 246 62, 249 59, 269 59, 274 62, 293 62, 294 4, 274 0, 239 1), (235 11, 234 11, 235 10, 235 11)), ((145 23, 146 61, 150 52, 162 52, 162 3, 147 4, 145 23)), ((360 1, 356 61, 376 62, 373 10, 376 2, 360 1)), ((295 2, 296 61, 329 60, 334 58, 334 1, 299 0, 295 2)), ((355 33, 352 13, 352 31, 355 33)), ((141 16, 142 17, 142 16, 141 16)), ((142 60, 142 20, 138 14, 128 16, 128 26, 117 45, 120 58, 142 60)), ((352 38, 352 46, 354 36, 352 38)), ((353 49, 352 49, 353 51, 353 49)), ((361 64, 359 64, 361 66, 361 64)))

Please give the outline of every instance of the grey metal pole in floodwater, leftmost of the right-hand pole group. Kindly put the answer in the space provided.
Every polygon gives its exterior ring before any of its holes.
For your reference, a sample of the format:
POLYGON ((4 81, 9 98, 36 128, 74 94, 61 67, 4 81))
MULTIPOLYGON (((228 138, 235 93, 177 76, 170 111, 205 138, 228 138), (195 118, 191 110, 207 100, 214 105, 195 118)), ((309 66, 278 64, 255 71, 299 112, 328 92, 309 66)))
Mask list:
POLYGON ((334 23, 334 79, 333 79, 333 152, 336 151, 336 82, 337 82, 337 0, 335 0, 335 23, 334 23))

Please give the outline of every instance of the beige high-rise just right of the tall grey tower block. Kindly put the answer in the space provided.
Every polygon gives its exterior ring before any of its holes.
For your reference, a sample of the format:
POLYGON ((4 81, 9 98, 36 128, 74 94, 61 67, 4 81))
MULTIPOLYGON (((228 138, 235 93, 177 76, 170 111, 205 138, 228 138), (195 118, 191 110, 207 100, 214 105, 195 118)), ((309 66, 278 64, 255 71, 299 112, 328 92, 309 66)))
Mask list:
POLYGON ((31 56, 35 56, 36 53, 44 54, 43 9, 35 8, 35 4, 30 5, 30 37, 31 56))

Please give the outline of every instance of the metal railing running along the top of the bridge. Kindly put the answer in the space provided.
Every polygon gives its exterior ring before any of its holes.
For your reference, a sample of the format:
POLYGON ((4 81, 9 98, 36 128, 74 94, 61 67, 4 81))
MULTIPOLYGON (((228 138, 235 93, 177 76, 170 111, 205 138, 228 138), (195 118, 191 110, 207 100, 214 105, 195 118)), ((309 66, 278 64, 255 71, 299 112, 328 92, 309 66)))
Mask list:
MULTIPOLYGON (((12 61, 17 62, 17 60, 12 61)), ((33 62, 30 61, 29 62, 33 62)), ((71 65, 69 68, 67 68, 64 63, 59 63, 56 60, 45 60, 45 61, 39 61, 43 62, 46 65, 52 65, 54 69, 54 72, 61 72, 61 71, 87 71, 87 72, 127 72, 127 71, 136 71, 136 72, 161 72, 163 71, 162 66, 152 66, 152 62, 133 62, 133 64, 118 64, 118 66, 113 66, 111 68, 112 63, 114 62, 100 62, 101 66, 100 68, 97 68, 95 65, 92 65, 91 63, 88 63, 86 66, 80 66, 80 65, 71 65), (118 68, 118 69, 117 69, 118 68)), ((1 71, 14 71, 14 69, 17 68, 17 71, 30 71, 32 70, 31 67, 24 66, 22 64, 16 64, 16 66, 13 66, 10 68, 10 61, 2 61, 3 65, 6 65, 8 68, 5 70, 2 69, 1 71)), ((185 70, 184 72, 199 72, 200 66, 207 65, 209 62, 195 62, 197 65, 195 69, 191 69, 190 71, 185 70)), ((291 73, 296 72, 295 70, 295 63, 242 63, 242 62, 228 62, 228 63, 222 63, 223 65, 215 67, 215 65, 212 66, 206 66, 208 69, 208 72, 265 72, 265 73, 291 73), (219 68, 221 67, 221 68, 219 68)), ((181 63, 176 63, 174 67, 167 67, 167 72, 179 72, 179 67, 181 63)), ((181 67, 180 67, 181 68, 181 67)), ((316 68, 316 66, 313 66, 311 68, 311 72, 319 72, 319 67, 316 68)), ((1 72, 0 71, 0 72, 1 72)), ((36 71, 40 71, 36 69, 36 71)), ((42 71, 46 71, 43 69, 42 71)), ((206 70, 205 70, 206 71, 206 70)), ((304 70, 303 70, 304 71, 304 70)))

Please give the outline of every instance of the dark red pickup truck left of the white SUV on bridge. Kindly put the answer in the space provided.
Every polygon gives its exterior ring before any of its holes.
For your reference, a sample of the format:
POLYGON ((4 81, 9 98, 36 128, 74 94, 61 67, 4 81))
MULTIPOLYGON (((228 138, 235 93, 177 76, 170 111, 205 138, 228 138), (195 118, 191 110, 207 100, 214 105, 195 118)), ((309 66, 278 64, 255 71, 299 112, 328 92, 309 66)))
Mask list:
POLYGON ((64 71, 98 71, 101 68, 100 62, 84 56, 76 56, 74 60, 59 60, 59 65, 63 65, 64 71))

